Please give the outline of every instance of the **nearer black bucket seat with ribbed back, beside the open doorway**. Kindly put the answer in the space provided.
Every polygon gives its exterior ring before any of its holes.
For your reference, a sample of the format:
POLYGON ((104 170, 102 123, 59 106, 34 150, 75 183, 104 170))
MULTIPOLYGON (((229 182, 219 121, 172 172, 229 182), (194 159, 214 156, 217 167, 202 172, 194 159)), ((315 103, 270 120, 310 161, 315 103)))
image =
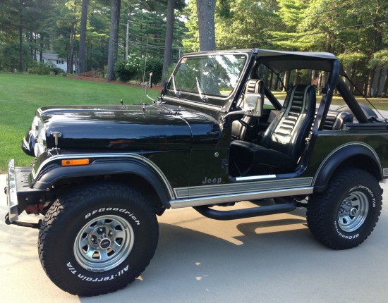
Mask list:
POLYGON ((295 85, 258 144, 242 140, 231 142, 231 157, 236 159, 236 166, 243 167, 238 169, 240 174, 255 174, 262 167, 267 168, 265 171, 296 168, 314 120, 315 106, 315 87, 295 85))

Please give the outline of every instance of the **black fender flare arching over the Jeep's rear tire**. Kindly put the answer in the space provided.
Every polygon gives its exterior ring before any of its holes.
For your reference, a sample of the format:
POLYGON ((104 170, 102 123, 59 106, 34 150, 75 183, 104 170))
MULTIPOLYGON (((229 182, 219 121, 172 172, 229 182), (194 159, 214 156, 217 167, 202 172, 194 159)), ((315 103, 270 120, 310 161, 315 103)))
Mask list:
MULTIPOLYGON (((314 192, 322 192, 326 189, 330 178, 339 166, 355 156, 362 156, 370 159, 372 166, 370 171, 374 171, 377 179, 382 180, 382 169, 380 159, 372 147, 363 142, 353 142, 344 144, 335 149, 322 161, 313 179, 314 192)), ((361 166, 362 163, 360 163, 361 166)))

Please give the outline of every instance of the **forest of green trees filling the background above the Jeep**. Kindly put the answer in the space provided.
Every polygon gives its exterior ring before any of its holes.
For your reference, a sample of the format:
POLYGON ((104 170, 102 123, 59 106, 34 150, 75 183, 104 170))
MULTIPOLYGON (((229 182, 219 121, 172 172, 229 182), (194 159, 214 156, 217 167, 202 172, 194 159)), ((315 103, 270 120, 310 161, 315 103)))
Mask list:
POLYGON ((200 50, 197 9, 211 4, 215 49, 329 51, 365 95, 387 97, 387 0, 2 0, 0 71, 63 75, 42 63, 51 52, 69 74, 140 81, 146 64, 160 82, 200 50))

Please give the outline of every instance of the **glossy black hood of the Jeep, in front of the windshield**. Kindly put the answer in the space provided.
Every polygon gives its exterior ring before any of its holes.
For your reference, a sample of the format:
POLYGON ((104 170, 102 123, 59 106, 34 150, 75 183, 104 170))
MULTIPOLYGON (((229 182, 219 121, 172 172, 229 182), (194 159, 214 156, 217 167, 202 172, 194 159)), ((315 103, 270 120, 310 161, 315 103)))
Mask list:
POLYGON ((191 149, 219 139, 216 120, 168 105, 50 106, 38 110, 47 147, 150 151, 191 149))

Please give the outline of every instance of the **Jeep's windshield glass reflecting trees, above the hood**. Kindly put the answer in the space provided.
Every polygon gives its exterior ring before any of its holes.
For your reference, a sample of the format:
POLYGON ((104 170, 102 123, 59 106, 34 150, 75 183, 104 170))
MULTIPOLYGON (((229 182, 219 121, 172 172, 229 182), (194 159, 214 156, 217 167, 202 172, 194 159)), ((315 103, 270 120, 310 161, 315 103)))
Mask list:
POLYGON ((228 97, 236 87, 246 56, 241 54, 220 54, 183 57, 169 80, 167 88, 177 97, 181 93, 228 97))

